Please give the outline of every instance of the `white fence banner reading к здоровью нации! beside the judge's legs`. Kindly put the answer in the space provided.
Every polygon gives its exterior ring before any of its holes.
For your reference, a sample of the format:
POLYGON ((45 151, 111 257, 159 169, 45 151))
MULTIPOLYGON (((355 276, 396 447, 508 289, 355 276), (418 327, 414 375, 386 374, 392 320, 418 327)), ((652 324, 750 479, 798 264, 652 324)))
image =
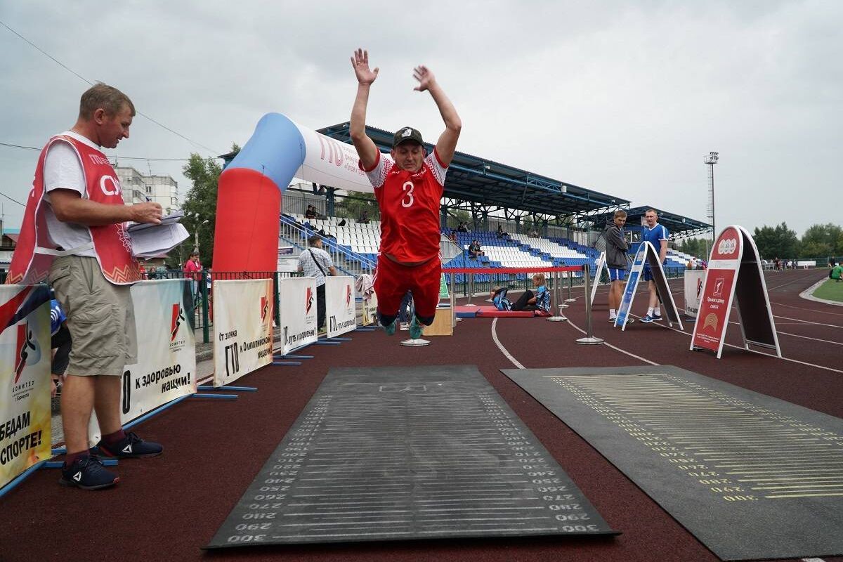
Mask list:
MULTIPOLYGON (((126 424, 182 396, 196 393, 196 320, 189 279, 132 285, 137 363, 123 367, 120 419, 126 424)), ((99 442, 91 415, 89 441, 99 442)))

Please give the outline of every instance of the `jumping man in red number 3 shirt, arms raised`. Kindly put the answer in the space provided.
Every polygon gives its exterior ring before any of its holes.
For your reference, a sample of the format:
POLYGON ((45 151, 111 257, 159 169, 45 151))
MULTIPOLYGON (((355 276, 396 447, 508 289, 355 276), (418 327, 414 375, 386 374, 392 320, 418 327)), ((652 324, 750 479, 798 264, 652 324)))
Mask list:
POLYGON ((433 73, 427 67, 416 67, 413 77, 419 85, 415 89, 430 92, 445 131, 432 154, 427 154, 421 133, 403 127, 395 133, 388 158, 366 136, 369 88, 378 78, 379 69, 369 69, 368 51, 362 49, 352 56, 352 67, 358 83, 350 122, 352 142, 380 207, 380 254, 374 279, 378 318, 387 334, 395 334, 401 298, 411 291, 416 315, 410 323, 410 337, 417 339, 421 336, 420 324, 433 323, 439 302, 439 201, 462 121, 433 73))

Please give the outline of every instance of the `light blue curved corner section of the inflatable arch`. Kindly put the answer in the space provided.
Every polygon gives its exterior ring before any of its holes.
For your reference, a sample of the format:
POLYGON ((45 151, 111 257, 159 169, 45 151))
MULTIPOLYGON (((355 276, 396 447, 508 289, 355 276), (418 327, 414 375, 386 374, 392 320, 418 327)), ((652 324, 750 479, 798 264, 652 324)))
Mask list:
POLYGON ((267 113, 255 126, 255 133, 226 167, 253 169, 271 179, 282 193, 301 165, 307 149, 293 121, 280 113, 267 113))

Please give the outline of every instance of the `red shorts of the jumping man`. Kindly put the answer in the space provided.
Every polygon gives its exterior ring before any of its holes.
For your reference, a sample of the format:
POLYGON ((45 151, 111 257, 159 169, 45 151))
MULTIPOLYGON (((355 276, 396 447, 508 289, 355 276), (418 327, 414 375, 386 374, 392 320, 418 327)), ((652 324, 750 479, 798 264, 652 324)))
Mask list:
POLYGON ((439 304, 439 278, 442 261, 438 256, 421 265, 400 265, 385 255, 378 256, 374 272, 374 292, 378 295, 378 310, 387 316, 398 314, 401 299, 413 292, 416 316, 433 318, 439 304))

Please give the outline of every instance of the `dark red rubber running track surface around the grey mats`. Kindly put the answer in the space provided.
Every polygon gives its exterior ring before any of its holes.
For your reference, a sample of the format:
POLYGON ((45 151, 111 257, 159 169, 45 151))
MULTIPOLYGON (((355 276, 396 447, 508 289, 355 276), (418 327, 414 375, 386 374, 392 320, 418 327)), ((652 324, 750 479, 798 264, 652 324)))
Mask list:
MULTIPOLYGON (((683 367, 843 417, 843 307, 798 297, 822 276, 822 270, 766 275, 782 354, 803 363, 729 347, 718 361, 711 353, 689 351, 692 325, 686 325, 682 334, 658 324, 636 322, 621 333, 607 321, 605 286, 599 287, 595 299, 594 335, 658 364, 683 367)), ((672 281, 671 286, 682 308, 681 281, 672 281)), ((584 328, 582 288, 575 289, 573 297, 577 302, 564 313, 572 324, 584 328)), ((640 315, 646 306, 647 295, 640 292, 633 312, 640 315)), ((513 368, 513 363, 500 351, 495 337, 527 368, 646 364, 607 345, 577 345, 575 340, 582 334, 572 324, 546 322, 544 318, 465 318, 453 336, 432 337, 428 347, 402 347, 400 332, 390 338, 382 331, 354 333, 352 341, 342 345, 311 346, 305 353, 314 355, 314 359, 303 361, 301 367, 265 367, 240 379, 239 383, 258 387, 256 393, 241 393, 236 401, 186 400, 144 422, 138 433, 164 443, 164 455, 121 461, 117 468, 121 482, 113 489, 89 492, 62 488, 56 484, 57 470, 41 470, 30 477, 0 500, 0 560, 717 560, 588 442, 499 371, 513 368), (201 550, 330 367, 428 364, 479 367, 609 525, 623 534, 616 538, 201 550)), ((731 325, 728 341, 740 345, 739 337, 738 326, 731 325)), ((831 562, 843 557, 824 559, 831 562)))

